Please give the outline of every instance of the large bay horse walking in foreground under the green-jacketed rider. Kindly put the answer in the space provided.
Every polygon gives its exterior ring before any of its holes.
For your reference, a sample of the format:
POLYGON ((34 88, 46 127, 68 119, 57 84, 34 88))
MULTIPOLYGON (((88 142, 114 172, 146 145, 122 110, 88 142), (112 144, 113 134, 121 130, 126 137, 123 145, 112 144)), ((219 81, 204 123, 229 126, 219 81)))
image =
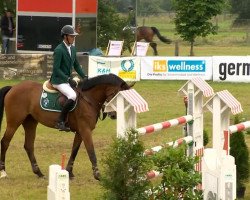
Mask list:
MULTIPOLYGON (((75 132, 71 155, 66 166, 70 178, 74 177, 73 164, 83 141, 92 164, 94 178, 100 179, 92 131, 95 129, 103 104, 110 101, 119 91, 128 90, 130 87, 131 85, 114 74, 96 76, 77 86, 78 102, 75 109, 68 114, 68 125, 71 131, 75 132)), ((1 140, 0 177, 7 176, 5 171, 6 152, 20 125, 25 131, 24 149, 30 160, 32 171, 38 177, 44 177, 34 155, 36 128, 38 123, 54 128, 59 113, 41 108, 39 100, 42 90, 42 84, 34 81, 23 81, 0 89, 0 125, 4 109, 7 122, 1 140)))

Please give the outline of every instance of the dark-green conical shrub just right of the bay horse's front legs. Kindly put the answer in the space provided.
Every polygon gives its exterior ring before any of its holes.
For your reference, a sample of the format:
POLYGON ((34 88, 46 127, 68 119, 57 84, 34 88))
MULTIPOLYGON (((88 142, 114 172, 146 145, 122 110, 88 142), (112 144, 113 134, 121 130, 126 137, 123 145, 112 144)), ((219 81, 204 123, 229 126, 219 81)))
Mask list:
POLYGON ((106 189, 104 199, 148 199, 145 191, 151 186, 145 175, 152 166, 151 162, 143 155, 145 148, 138 140, 137 131, 127 131, 126 138, 115 139, 103 159, 101 184, 106 189))

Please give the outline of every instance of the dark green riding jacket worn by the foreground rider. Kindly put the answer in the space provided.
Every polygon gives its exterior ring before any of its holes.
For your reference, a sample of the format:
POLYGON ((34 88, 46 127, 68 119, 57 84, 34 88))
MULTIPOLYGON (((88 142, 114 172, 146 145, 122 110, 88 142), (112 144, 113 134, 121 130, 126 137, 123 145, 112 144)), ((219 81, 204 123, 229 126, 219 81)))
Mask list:
POLYGON ((50 78, 50 82, 54 85, 61 83, 68 83, 68 79, 72 74, 73 68, 81 78, 84 78, 85 74, 76 59, 76 49, 71 46, 71 56, 65 44, 60 43, 54 50, 54 63, 53 71, 50 78))

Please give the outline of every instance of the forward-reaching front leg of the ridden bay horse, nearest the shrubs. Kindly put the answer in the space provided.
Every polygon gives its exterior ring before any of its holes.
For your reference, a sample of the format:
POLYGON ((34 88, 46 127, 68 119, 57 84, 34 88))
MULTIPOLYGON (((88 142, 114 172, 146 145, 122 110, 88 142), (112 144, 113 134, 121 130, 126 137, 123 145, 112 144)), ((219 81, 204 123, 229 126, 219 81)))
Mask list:
POLYGON ((87 150, 89 160, 92 163, 93 175, 96 180, 100 180, 100 172, 97 167, 97 159, 96 159, 95 148, 94 148, 93 139, 92 139, 92 131, 90 129, 85 128, 80 133, 80 135, 82 137, 85 148, 87 150))

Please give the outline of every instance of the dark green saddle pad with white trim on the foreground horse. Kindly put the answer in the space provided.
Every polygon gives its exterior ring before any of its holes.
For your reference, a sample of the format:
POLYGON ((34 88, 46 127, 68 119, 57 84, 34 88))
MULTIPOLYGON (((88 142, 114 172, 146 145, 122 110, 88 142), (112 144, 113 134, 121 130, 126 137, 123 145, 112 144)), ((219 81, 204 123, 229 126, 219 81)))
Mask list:
MULTIPOLYGON (((42 109, 47 110, 47 111, 54 111, 54 112, 61 112, 62 111, 62 106, 60 105, 59 102, 59 97, 61 94, 58 93, 49 93, 45 90, 43 90, 40 98, 40 106, 42 109)), ((75 109, 77 102, 75 105, 72 107, 72 110, 75 109)))

